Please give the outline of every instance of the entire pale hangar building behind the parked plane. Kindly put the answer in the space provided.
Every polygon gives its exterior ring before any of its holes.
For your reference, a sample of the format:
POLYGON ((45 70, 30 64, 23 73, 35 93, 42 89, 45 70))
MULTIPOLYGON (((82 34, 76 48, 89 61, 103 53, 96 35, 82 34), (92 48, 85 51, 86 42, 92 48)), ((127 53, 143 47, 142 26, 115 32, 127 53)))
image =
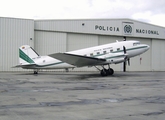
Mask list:
MULTIPOLYGON (((165 71, 165 28, 131 19, 31 20, 0 17, 0 71, 18 64, 18 48, 28 44, 40 55, 126 40, 138 40, 150 49, 131 59, 127 71, 165 71)), ((122 71, 122 64, 111 65, 122 71)), ((94 71, 86 67, 75 71, 94 71)))

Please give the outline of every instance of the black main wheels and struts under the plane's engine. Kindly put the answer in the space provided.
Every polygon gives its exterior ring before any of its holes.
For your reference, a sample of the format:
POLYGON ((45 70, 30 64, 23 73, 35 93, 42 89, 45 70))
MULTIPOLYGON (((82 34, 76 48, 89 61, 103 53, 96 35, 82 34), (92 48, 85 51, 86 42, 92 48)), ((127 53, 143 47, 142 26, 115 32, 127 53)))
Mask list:
POLYGON ((113 75, 114 70, 112 68, 110 68, 110 65, 109 64, 108 64, 108 69, 104 68, 104 66, 102 66, 102 68, 103 68, 102 70, 100 70, 99 68, 97 68, 100 71, 100 75, 101 76, 113 75))

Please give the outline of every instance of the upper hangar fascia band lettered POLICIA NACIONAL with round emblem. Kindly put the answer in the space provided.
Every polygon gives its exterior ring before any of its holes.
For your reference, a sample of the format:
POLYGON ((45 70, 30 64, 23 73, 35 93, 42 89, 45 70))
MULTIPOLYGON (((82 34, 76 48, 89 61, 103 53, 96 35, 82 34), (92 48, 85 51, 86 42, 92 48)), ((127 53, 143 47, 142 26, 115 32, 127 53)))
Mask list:
POLYGON ((165 38, 165 28, 131 19, 36 20, 35 30, 108 36, 165 38))

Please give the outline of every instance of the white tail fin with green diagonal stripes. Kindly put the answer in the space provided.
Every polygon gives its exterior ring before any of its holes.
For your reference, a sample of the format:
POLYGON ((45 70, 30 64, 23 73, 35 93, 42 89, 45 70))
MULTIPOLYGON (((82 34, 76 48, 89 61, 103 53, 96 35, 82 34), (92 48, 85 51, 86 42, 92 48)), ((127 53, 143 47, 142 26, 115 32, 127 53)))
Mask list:
POLYGON ((21 65, 33 64, 33 58, 38 56, 39 54, 29 45, 23 45, 19 48, 19 63, 21 65))

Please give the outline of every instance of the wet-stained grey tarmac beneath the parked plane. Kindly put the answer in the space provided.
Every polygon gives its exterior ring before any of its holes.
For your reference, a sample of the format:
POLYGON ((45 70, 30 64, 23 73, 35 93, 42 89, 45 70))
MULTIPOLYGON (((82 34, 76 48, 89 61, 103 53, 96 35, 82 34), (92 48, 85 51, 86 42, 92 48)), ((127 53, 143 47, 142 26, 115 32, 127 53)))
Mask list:
POLYGON ((165 120, 165 72, 1 72, 0 120, 165 120))

